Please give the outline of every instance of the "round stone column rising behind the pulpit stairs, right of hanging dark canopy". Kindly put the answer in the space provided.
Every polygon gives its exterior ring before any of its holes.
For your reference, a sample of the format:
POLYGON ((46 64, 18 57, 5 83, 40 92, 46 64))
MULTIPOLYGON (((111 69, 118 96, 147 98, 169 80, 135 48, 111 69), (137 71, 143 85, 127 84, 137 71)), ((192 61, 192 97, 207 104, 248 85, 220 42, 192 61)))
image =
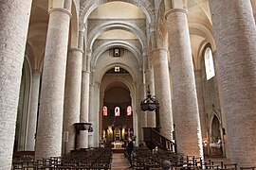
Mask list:
POLYGON ((155 97, 159 102, 160 133, 171 140, 174 127, 167 49, 156 48, 153 50, 153 65, 155 97))

